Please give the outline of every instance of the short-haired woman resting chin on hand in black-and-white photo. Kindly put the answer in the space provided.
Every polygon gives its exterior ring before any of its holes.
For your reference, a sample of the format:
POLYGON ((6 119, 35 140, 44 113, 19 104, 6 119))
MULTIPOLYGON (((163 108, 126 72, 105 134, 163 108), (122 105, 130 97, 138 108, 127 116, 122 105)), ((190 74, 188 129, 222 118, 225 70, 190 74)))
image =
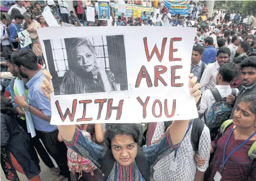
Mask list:
POLYGON ((72 65, 65 72, 60 94, 85 94, 116 91, 115 77, 97 66, 97 55, 90 40, 75 38, 70 44, 72 65))

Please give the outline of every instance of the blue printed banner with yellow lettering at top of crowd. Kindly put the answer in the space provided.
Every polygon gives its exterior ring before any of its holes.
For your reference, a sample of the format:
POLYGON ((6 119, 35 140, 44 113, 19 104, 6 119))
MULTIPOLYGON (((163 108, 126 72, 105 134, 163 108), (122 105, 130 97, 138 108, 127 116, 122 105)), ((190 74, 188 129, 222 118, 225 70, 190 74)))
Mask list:
POLYGON ((189 0, 165 0, 164 6, 169 8, 169 13, 171 15, 180 14, 182 16, 189 15, 189 0))

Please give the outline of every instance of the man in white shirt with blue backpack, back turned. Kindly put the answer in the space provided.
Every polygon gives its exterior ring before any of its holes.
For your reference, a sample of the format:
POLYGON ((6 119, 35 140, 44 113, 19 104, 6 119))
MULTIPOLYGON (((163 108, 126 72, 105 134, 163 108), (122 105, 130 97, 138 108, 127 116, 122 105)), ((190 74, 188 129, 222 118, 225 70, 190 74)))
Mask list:
POLYGON ((232 112, 232 106, 226 102, 226 97, 230 94, 236 95, 239 90, 230 87, 230 82, 238 75, 238 69, 234 63, 226 63, 219 68, 214 88, 208 89, 204 92, 199 116, 209 127, 211 133, 211 140, 216 137, 218 128, 221 124, 228 120, 232 112))

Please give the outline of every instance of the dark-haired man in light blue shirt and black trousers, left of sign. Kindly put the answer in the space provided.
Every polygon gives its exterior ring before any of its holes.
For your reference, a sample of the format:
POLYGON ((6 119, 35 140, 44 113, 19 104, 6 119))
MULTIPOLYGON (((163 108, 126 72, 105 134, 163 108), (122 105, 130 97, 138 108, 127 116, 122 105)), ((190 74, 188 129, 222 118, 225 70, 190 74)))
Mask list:
POLYGON ((39 70, 36 55, 30 50, 18 50, 12 53, 11 59, 14 67, 22 78, 27 78, 29 104, 25 101, 24 95, 15 96, 15 103, 29 111, 36 129, 36 133, 40 135, 40 139, 47 152, 53 157, 60 168, 59 180, 70 178, 67 167, 67 148, 63 142, 58 141, 58 128, 51 125, 51 105, 41 91, 43 79, 43 71, 39 70))

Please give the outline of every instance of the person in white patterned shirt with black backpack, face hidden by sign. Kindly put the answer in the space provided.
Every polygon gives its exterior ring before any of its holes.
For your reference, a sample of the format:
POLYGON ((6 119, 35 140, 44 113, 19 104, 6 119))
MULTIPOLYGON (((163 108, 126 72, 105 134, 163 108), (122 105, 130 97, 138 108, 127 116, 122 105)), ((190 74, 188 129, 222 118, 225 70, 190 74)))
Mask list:
MULTIPOLYGON (((156 143, 169 129, 172 121, 158 122, 152 144, 156 143)), ((209 128, 200 119, 189 122, 187 132, 180 146, 153 167, 155 181, 201 181, 208 168, 211 139, 209 128), (201 167, 196 166, 194 155, 198 151, 206 162, 201 167)))

